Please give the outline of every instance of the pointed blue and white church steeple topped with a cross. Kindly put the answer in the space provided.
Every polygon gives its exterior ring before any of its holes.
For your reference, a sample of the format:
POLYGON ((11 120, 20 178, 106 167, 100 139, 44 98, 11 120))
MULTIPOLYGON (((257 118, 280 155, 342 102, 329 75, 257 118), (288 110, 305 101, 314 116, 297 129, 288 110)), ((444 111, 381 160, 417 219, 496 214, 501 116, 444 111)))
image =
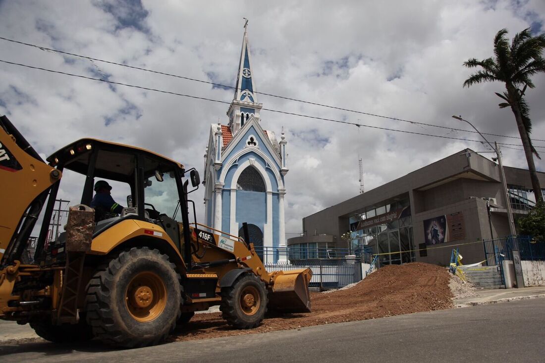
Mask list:
POLYGON ((253 81, 251 66, 250 45, 248 41, 248 21, 245 19, 244 36, 240 50, 240 60, 237 75, 237 88, 233 102, 227 111, 229 126, 233 135, 244 126, 244 123, 253 115, 259 121, 259 110, 262 104, 257 102, 256 85, 253 81))

